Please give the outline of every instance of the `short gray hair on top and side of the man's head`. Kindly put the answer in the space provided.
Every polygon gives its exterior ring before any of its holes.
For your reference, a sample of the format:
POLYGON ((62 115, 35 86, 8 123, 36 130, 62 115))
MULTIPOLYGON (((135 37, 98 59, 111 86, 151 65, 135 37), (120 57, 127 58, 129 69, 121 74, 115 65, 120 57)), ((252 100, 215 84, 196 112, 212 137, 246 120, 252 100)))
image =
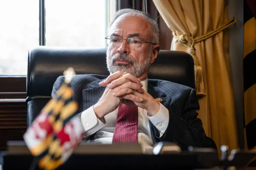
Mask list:
POLYGON ((136 9, 131 9, 131 8, 125 8, 125 9, 121 9, 119 11, 117 11, 113 17, 113 20, 111 21, 111 23, 109 24, 108 28, 110 28, 113 23, 115 22, 115 20, 120 17, 123 14, 133 14, 134 16, 140 16, 140 17, 144 17, 146 20, 148 20, 148 22, 151 24, 152 26, 152 43, 154 44, 159 44, 159 28, 157 25, 157 22, 155 22, 149 14, 143 12, 143 11, 139 11, 136 9))

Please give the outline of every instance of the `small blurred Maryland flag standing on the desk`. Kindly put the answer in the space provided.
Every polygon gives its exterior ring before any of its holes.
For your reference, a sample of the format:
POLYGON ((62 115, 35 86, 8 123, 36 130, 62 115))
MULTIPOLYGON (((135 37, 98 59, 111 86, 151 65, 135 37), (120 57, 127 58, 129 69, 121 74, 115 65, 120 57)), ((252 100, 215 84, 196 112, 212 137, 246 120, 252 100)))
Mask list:
POLYGON ((63 164, 82 139, 84 129, 76 115, 78 104, 73 100, 69 86, 71 78, 72 75, 67 73, 55 97, 45 105, 23 136, 35 156, 35 165, 44 170, 54 170, 63 164))

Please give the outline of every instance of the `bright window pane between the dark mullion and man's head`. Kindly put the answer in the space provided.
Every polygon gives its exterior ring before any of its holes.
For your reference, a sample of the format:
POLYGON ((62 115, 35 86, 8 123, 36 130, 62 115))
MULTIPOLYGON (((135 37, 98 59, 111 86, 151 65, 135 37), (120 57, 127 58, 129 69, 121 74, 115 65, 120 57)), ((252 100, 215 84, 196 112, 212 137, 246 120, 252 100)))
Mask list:
POLYGON ((105 0, 45 0, 45 43, 106 47, 105 0))

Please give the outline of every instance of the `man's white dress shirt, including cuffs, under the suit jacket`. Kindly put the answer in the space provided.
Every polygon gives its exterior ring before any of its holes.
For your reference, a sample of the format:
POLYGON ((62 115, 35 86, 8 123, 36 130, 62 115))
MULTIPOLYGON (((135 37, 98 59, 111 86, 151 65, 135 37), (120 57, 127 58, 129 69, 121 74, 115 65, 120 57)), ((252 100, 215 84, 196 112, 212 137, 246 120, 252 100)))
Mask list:
MULTIPOLYGON (((141 81, 141 83, 143 84, 143 89, 147 91, 148 79, 141 81)), ((111 144, 117 112, 118 108, 100 120, 96 117, 93 106, 83 111, 81 113, 81 122, 85 130, 85 137, 95 133, 93 139, 91 139, 93 142, 111 144)), ((148 120, 159 130, 161 137, 169 123, 169 110, 160 103, 158 113, 155 116, 148 116, 145 109, 138 107, 138 116, 138 143, 141 144, 143 152, 145 152, 145 149, 153 146, 148 120)))

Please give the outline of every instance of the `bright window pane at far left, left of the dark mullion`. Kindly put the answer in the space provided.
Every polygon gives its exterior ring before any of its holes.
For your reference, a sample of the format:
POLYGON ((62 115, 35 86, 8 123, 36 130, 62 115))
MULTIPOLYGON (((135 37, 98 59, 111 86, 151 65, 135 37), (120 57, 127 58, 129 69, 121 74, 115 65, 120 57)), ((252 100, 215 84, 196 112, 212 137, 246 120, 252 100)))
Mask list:
POLYGON ((0 0, 0 75, 26 74, 28 49, 39 41, 38 7, 39 0, 0 0))

